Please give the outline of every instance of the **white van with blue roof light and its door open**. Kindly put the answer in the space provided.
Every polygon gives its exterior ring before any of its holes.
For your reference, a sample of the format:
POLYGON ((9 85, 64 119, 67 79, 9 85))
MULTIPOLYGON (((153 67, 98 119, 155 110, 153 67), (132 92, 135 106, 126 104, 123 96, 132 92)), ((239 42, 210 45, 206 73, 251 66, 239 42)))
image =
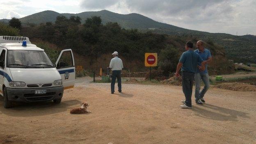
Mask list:
POLYGON ((27 37, 0 36, 0 95, 5 108, 19 101, 60 103, 64 89, 74 83, 71 49, 62 50, 53 64, 27 37))

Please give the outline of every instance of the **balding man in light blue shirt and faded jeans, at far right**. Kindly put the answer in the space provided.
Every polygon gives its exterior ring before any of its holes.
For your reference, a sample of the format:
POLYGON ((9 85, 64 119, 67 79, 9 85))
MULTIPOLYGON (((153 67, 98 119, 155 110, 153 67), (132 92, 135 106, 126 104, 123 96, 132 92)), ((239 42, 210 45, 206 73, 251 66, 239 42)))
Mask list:
MULTIPOLYGON (((206 62, 206 64, 208 64, 209 62, 212 62, 212 56, 210 54, 210 50, 208 50, 207 48, 204 48, 203 41, 201 40, 197 41, 197 50, 195 50, 195 52, 200 55, 200 57, 206 62)), ((205 70, 202 70, 201 64, 198 64, 197 72, 195 73, 195 81, 196 81, 195 101, 198 105, 202 105, 203 103, 205 103, 203 96, 210 87, 210 80, 209 80, 209 75, 207 71, 207 65, 205 70), (204 87, 202 91, 200 91, 201 80, 203 80, 203 83, 204 83, 204 87)))

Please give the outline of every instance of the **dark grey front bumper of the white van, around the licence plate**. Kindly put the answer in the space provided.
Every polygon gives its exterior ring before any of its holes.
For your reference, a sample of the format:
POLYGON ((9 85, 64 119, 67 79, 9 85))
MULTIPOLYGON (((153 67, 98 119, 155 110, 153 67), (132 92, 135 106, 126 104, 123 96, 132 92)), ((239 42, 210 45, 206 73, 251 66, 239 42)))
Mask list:
POLYGON ((9 88, 6 87, 9 101, 34 102, 52 101, 62 98, 64 87, 44 87, 44 88, 9 88), (35 94, 35 90, 46 90, 46 94, 35 94))

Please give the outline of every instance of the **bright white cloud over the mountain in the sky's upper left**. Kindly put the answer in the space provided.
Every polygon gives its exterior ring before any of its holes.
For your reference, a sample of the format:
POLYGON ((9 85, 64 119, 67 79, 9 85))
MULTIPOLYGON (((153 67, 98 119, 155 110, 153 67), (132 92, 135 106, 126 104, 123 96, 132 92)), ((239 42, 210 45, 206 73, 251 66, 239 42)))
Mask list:
POLYGON ((81 0, 8 0, 0 1, 0 19, 28 16, 45 10, 59 13, 80 13, 81 0))

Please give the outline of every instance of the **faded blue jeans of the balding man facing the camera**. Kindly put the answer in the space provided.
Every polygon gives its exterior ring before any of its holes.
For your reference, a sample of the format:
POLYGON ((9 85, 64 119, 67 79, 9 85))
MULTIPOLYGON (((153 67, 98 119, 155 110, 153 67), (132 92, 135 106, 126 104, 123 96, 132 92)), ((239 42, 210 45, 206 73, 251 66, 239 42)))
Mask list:
POLYGON ((195 73, 195 81, 196 81, 196 89, 195 89, 195 100, 199 100, 199 98, 203 98, 204 94, 210 87, 210 79, 208 73, 195 73), (201 88, 201 80, 203 80, 204 87, 200 92, 201 88))

